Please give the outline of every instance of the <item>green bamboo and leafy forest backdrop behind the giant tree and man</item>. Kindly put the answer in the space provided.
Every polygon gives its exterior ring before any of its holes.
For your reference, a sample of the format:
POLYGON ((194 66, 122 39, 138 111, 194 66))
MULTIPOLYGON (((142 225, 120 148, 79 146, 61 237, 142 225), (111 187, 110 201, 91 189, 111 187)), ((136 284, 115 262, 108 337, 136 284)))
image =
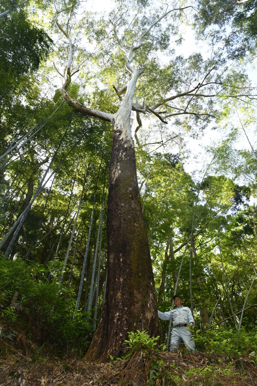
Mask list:
MULTIPOLYGON (((215 325, 208 336, 198 331, 199 350, 250 354, 257 342, 257 2, 102 7, 0 5, 0 336, 23 331, 60 356, 88 349, 106 294, 112 125, 78 112, 60 87, 81 105, 114 114, 129 80, 122 46, 166 12, 134 52, 144 72, 131 115, 158 309, 170 310, 178 293, 197 330, 215 325)), ((168 329, 160 323, 163 342, 168 329)))

